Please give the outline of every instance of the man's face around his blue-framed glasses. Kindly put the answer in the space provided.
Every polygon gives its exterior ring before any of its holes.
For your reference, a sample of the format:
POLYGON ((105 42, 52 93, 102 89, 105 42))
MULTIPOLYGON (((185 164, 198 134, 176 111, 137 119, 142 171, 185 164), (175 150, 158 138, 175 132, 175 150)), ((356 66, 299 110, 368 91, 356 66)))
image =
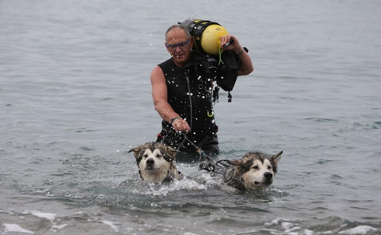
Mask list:
MULTIPOLYGON (((166 37, 166 45, 177 45, 180 43, 187 42, 189 38, 187 38, 186 33, 181 28, 174 28, 170 32, 167 33, 166 37)), ((167 51, 171 54, 173 61, 177 66, 184 66, 185 62, 189 59, 189 55, 191 54, 191 48, 193 46, 193 38, 189 39, 189 42, 186 45, 186 48, 180 48, 176 46, 176 50, 171 51, 167 48, 167 51)))

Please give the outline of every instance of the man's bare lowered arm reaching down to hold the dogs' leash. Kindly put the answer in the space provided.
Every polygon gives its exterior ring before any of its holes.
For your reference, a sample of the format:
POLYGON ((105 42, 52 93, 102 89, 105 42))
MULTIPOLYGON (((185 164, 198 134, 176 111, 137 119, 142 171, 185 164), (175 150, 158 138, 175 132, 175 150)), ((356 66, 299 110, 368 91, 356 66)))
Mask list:
MULTIPOLYGON (((167 86, 163 70, 156 66, 151 72, 152 98, 154 100, 155 110, 163 120, 170 122, 172 118, 179 117, 168 103, 167 86)), ((173 128, 176 131, 190 131, 187 121, 178 118, 173 122, 173 128)))

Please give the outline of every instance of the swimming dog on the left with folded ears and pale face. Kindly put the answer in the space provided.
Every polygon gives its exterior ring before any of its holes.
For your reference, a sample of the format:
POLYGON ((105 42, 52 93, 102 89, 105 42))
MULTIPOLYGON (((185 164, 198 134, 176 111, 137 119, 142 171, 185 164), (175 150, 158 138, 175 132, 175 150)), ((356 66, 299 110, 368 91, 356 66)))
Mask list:
POLYGON ((149 142, 128 152, 134 152, 136 165, 143 180, 158 183, 181 179, 175 166, 178 150, 161 143, 149 142))

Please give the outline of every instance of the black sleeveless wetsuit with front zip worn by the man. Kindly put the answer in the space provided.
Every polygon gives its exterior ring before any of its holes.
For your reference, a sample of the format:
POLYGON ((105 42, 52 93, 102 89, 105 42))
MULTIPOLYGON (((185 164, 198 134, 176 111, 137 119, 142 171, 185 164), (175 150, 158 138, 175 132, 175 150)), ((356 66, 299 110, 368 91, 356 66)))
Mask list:
MULTIPOLYGON (((168 103, 181 118, 186 120, 191 128, 187 139, 207 154, 218 153, 218 127, 212 104, 212 82, 205 77, 203 67, 195 62, 196 53, 191 53, 191 59, 179 68, 173 59, 159 64, 165 75, 168 103)), ((174 131, 172 124, 162 121, 162 132, 157 141, 163 141, 180 151, 196 150, 181 133, 174 131), (163 140, 162 140, 163 139, 163 140)))

